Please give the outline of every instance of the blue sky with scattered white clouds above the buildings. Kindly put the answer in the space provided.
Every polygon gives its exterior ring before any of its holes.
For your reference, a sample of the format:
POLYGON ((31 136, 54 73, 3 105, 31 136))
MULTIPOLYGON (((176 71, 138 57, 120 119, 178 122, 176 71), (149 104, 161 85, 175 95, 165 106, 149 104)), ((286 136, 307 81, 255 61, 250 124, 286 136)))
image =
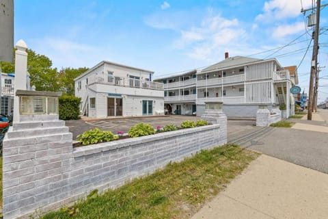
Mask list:
MULTIPOLYGON (((15 0, 14 40, 59 69, 107 60, 155 78, 215 64, 225 52, 276 58, 299 66, 308 92, 313 29, 302 7, 312 0, 15 0)), ((318 103, 328 98, 328 6, 320 13, 318 103)))

